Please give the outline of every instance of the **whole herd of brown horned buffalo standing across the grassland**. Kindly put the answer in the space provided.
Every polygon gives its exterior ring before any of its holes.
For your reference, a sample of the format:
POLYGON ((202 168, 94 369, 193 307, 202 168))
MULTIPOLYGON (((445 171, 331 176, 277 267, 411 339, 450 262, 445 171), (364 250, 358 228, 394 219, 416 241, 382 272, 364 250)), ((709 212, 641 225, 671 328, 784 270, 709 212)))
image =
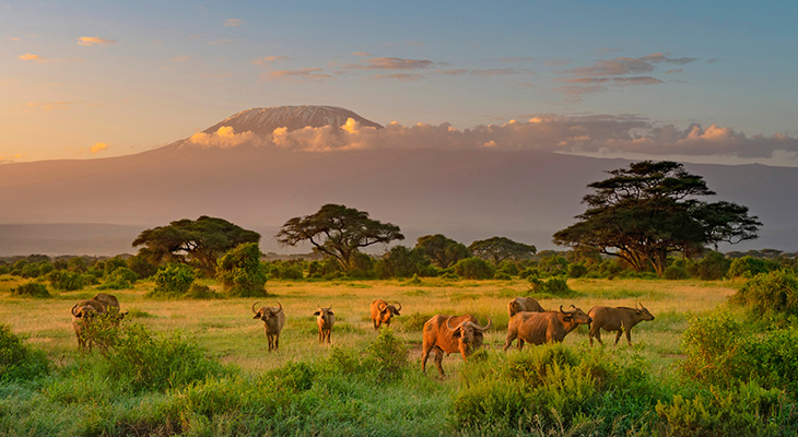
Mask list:
MULTIPOLYGON (((285 324, 285 314, 280 303, 277 307, 263 306, 256 310, 258 303, 253 304, 254 319, 263 321, 269 352, 278 351, 280 347, 280 332, 285 324)), ((388 304, 383 299, 375 299, 369 307, 374 329, 380 326, 390 326, 394 316, 399 316, 402 306, 399 303, 388 304)), ((504 351, 509 349, 514 341, 518 341, 518 350, 524 343, 544 344, 559 343, 580 324, 587 324, 592 345, 592 339, 601 341, 601 330, 615 332, 615 344, 625 332, 626 342, 632 344, 631 331, 635 324, 643 320, 654 320, 654 316, 642 304, 635 304, 634 308, 627 307, 605 307, 596 306, 587 314, 580 308, 571 306, 568 310, 560 306, 559 310, 545 310, 537 300, 531 297, 516 297, 507 303, 509 321, 507 323, 507 338, 504 343, 504 351)), ((121 312, 119 300, 109 294, 97 293, 91 299, 77 303, 72 307, 72 326, 78 336, 78 346, 81 350, 92 349, 93 339, 87 334, 91 323, 101 317, 106 318, 112 324, 118 324, 128 311, 121 312)), ((317 307, 313 314, 318 324, 319 343, 330 343, 330 333, 336 322, 332 307, 317 307)), ((436 315, 424 323, 421 369, 426 373, 426 359, 432 351, 435 351, 435 367, 444 377, 444 369, 441 366, 444 354, 459 352, 463 361, 477 351, 483 342, 483 333, 491 328, 493 321, 486 317, 488 323, 480 324, 472 315, 444 316, 436 315)))

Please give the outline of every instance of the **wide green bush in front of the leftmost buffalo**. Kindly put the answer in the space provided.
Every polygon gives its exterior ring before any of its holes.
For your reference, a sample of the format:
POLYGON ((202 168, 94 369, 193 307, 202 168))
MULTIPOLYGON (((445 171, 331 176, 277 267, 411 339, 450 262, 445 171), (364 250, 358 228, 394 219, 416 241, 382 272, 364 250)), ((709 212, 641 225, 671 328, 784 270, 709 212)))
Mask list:
POLYGON ((166 391, 228 371, 179 332, 156 335, 138 323, 124 326, 106 361, 106 376, 133 391, 166 391))

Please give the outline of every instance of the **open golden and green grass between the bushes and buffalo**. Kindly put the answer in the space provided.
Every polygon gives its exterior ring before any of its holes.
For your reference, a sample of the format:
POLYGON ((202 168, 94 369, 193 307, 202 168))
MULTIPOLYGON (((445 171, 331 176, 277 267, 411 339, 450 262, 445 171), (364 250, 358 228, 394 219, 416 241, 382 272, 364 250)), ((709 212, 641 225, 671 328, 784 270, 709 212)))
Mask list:
MULTIPOLYGON (((107 376, 109 362, 101 354, 78 351, 69 310, 74 302, 93 296, 94 287, 30 299, 11 296, 8 290, 16 281, 0 276, 0 323, 11 323, 26 344, 55 365, 49 376, 0 383, 0 435, 578 435, 579 426, 601 435, 595 430, 608 429, 587 416, 584 423, 561 424, 560 432, 556 425, 536 428, 532 422, 523 433, 495 422, 460 426, 453 402, 469 387, 467 378, 474 371, 505 375, 508 363, 535 350, 501 351, 507 302, 529 295, 529 283, 436 277, 420 282, 271 280, 268 297, 257 300, 269 306, 280 302, 286 317, 280 350, 272 353, 267 352, 263 323, 253 319, 254 298, 152 300, 145 297, 153 286, 150 282, 114 292, 122 310, 130 310, 126 323, 139 323, 155 334, 179 332, 191 347, 225 369, 169 390, 137 391, 107 376), (402 315, 392 319, 391 328, 408 349, 408 364, 390 381, 379 380, 375 365, 367 361, 368 347, 379 336, 369 317, 375 298, 402 305, 402 315), (332 344, 319 344, 313 312, 317 306, 330 305, 337 319, 332 344), (435 314, 472 314, 481 323, 486 317, 493 320, 483 352, 474 359, 463 363, 459 354, 444 358, 448 375, 444 380, 437 378, 432 357, 429 374, 420 371, 421 330, 435 314)), ((216 290, 214 282, 203 283, 216 290)), ((612 346, 614 335, 603 333, 606 345, 591 350, 587 329, 579 328, 565 339, 566 350, 619 363, 618 368, 610 365, 611 371, 620 371, 627 363, 645 363, 653 380, 673 381, 676 364, 683 356, 681 336, 691 318, 726 302, 739 283, 585 279, 568 280, 568 286, 574 296, 541 299, 541 305, 556 309, 573 304, 587 311, 596 305, 633 307, 639 302, 656 319, 634 328, 631 347, 625 339, 612 346)), ((621 409, 612 406, 612 392, 597 395, 607 398, 596 398, 596 405, 623 415, 622 410, 612 410, 621 409)), ((635 409, 654 411, 649 401, 641 402, 635 409)), ((473 405, 479 408, 479 402, 473 405)), ((622 429, 630 430, 629 426, 622 429)), ((652 429, 629 434, 648 435, 652 429)))

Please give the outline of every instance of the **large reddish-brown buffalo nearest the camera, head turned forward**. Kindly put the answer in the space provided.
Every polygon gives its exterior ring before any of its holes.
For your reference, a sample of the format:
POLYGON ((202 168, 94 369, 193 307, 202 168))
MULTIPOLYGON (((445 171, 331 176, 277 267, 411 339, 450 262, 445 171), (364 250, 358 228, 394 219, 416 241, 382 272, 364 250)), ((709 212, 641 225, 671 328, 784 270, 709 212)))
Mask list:
POLYGON ((424 340, 421 350, 421 371, 426 373, 426 358, 430 352, 435 350, 435 366, 441 377, 445 377, 444 368, 441 363, 444 359, 444 353, 451 354, 460 352, 463 361, 468 361, 468 356, 482 345, 483 335, 491 328, 491 318, 488 318, 488 324, 482 327, 478 323, 476 317, 471 315, 465 316, 433 316, 424 323, 424 340))

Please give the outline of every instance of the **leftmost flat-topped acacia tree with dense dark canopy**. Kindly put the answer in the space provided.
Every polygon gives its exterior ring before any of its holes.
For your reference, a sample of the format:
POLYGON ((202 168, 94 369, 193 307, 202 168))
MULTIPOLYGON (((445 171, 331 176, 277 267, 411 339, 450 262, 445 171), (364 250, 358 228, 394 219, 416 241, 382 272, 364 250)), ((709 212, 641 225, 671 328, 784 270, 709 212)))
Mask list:
POLYGON ((199 269, 208 276, 216 272, 216 259, 243 243, 258 243, 260 234, 247 231, 224 218, 202 215, 197 220, 178 220, 139 234, 133 247, 145 246, 149 259, 180 262, 199 269))

